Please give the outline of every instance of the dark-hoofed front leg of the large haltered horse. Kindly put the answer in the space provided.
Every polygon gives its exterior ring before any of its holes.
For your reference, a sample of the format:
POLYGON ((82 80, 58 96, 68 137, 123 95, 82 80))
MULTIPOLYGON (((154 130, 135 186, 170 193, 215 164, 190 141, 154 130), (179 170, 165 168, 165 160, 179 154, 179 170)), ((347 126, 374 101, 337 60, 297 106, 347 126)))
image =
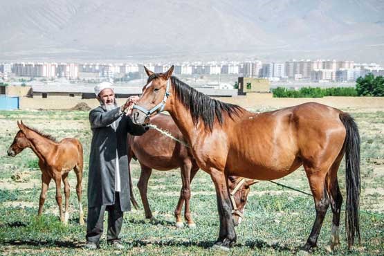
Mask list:
POLYGON ((219 238, 214 243, 214 248, 229 250, 236 242, 235 225, 232 220, 232 205, 228 192, 228 176, 223 171, 211 168, 210 176, 214 183, 217 196, 217 210, 220 217, 219 238))

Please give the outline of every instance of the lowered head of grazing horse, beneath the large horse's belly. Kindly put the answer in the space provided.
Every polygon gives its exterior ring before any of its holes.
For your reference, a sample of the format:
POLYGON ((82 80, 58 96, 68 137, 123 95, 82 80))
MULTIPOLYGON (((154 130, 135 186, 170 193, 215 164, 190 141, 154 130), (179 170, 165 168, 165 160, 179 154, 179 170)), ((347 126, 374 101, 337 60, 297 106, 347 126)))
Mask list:
POLYGON ((232 201, 232 219, 235 226, 244 219, 244 209, 250 192, 250 185, 257 183, 255 180, 246 180, 237 176, 229 176, 228 180, 230 200, 232 201))

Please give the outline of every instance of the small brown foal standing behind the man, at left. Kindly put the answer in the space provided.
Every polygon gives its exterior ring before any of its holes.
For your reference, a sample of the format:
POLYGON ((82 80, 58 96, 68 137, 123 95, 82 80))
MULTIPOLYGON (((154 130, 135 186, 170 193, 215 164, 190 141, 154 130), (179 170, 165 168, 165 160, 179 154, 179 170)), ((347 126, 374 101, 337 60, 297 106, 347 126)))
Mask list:
POLYGON ((43 212, 43 205, 46 199, 48 185, 53 179, 56 183, 56 201, 59 205, 60 220, 63 223, 68 223, 69 213, 69 183, 68 172, 72 169, 75 171, 77 184, 76 193, 79 204, 80 224, 84 224, 84 213, 82 211, 82 168, 83 155, 82 145, 75 138, 64 138, 57 142, 52 136, 42 134, 36 129, 31 129, 24 125, 21 121, 17 122, 19 131, 17 132, 12 145, 8 149, 8 156, 16 156, 26 147, 35 152, 39 158, 39 167, 42 170, 42 192, 39 200, 39 212, 43 212), (62 210, 62 192, 60 191, 62 180, 64 181, 65 194, 65 214, 62 210))

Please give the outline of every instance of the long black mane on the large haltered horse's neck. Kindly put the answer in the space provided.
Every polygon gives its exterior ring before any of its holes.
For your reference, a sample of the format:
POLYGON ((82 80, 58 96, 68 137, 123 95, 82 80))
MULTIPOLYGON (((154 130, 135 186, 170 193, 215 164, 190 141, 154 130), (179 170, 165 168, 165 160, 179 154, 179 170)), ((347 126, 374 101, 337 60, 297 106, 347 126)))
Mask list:
POLYGON ((244 111, 242 107, 235 104, 224 103, 219 100, 210 98, 208 95, 196 91, 188 84, 181 82, 177 77, 171 77, 172 86, 174 86, 175 96, 181 103, 190 110, 194 125, 203 120, 205 127, 210 131, 213 129, 214 117, 216 116, 220 125, 223 125, 223 112, 233 119, 239 116, 239 112, 244 111))

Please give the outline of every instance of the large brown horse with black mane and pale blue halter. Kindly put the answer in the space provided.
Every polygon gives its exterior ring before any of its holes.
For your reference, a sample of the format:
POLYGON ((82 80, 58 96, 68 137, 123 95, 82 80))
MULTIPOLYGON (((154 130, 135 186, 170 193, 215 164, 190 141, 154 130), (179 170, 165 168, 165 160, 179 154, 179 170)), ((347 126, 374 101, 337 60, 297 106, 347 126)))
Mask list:
POLYGON ((152 114, 168 111, 191 145, 196 163, 210 174, 220 216, 219 238, 214 247, 228 250, 236 241, 228 196, 229 175, 272 180, 301 165, 316 208, 316 219, 303 249, 316 246, 329 204, 333 213, 329 248, 338 245, 342 195, 337 172, 344 155, 349 248, 355 235, 360 241, 360 137, 348 113, 313 102, 251 113, 211 99, 172 77, 173 66, 166 73, 145 70, 149 78, 134 107, 134 122, 146 125, 152 114))

